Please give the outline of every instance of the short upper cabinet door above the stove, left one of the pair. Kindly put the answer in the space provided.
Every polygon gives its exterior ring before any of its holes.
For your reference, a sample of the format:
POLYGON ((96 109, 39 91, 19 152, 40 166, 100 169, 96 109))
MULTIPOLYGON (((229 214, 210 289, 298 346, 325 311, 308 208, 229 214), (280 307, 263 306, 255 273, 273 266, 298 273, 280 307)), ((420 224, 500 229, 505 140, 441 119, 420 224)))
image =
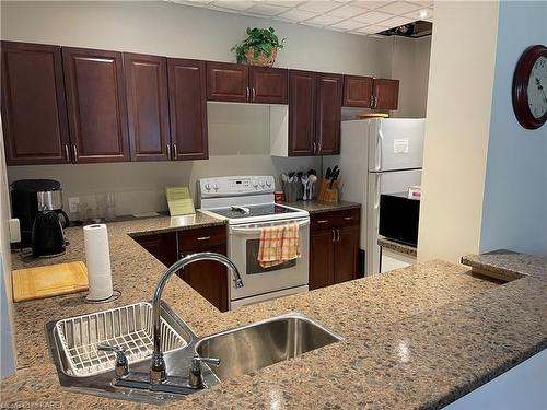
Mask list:
POLYGON ((207 99, 234 103, 249 101, 248 66, 208 61, 207 99))

